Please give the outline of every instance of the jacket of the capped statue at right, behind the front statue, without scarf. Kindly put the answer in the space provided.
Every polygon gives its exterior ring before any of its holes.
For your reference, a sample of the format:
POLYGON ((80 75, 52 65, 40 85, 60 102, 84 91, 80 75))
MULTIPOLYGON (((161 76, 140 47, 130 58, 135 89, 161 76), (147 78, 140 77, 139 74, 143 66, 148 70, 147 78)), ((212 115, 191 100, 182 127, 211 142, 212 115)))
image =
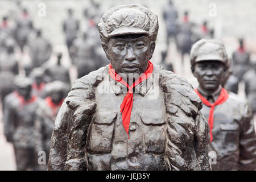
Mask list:
MULTIPOLYGON (((210 107, 202 113, 209 118, 210 107)), ((209 152, 217 154, 213 170, 254 170, 256 168, 256 135, 253 119, 245 101, 234 93, 214 107, 213 140, 209 152)))

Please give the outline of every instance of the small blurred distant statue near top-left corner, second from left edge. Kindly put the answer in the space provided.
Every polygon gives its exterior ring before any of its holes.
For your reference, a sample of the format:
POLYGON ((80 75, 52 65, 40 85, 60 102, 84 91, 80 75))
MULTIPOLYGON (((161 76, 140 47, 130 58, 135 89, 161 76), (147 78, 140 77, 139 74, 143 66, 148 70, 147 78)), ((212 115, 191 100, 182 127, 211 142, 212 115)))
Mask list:
POLYGON ((32 30, 32 20, 28 15, 27 9, 23 9, 22 15, 19 16, 19 19, 16 22, 15 29, 15 40, 20 47, 20 51, 23 52, 23 47, 27 44, 28 36, 32 30))

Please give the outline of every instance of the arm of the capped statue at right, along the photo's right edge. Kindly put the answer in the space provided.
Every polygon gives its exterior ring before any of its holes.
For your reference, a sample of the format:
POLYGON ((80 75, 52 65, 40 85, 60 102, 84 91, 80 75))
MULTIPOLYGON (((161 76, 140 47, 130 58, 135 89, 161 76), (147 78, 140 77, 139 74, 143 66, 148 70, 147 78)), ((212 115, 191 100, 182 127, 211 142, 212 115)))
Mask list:
POLYGON ((248 106, 244 106, 242 117, 242 130, 240 133, 240 170, 256 169, 256 134, 254 130, 253 117, 248 106))

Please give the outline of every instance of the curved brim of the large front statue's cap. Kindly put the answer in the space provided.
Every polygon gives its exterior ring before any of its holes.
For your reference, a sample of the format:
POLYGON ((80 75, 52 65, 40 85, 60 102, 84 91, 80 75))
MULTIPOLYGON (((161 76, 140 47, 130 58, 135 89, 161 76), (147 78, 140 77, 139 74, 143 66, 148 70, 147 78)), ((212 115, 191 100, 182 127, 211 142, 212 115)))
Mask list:
POLYGON ((118 35, 127 35, 127 34, 146 34, 149 35, 147 31, 141 28, 134 27, 121 27, 117 28, 109 34, 109 37, 118 36, 118 35))

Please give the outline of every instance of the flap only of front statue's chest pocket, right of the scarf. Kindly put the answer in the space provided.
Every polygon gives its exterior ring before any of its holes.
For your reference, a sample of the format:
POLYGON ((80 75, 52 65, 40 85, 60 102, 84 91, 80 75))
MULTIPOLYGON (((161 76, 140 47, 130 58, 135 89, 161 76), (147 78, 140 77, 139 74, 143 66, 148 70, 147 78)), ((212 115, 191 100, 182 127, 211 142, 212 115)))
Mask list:
POLYGON ((146 125, 162 125, 165 123, 162 112, 150 111, 139 114, 141 121, 146 125))

